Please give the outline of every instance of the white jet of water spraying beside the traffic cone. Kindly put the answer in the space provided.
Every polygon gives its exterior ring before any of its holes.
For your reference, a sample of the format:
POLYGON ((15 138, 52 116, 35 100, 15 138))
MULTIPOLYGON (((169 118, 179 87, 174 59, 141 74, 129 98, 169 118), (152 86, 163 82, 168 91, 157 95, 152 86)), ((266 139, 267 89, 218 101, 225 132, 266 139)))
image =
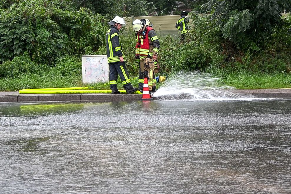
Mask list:
POLYGON ((234 87, 219 85, 219 78, 211 74, 194 72, 178 72, 169 77, 155 93, 153 98, 159 100, 247 100, 257 99, 252 95, 234 94, 227 89, 234 87))

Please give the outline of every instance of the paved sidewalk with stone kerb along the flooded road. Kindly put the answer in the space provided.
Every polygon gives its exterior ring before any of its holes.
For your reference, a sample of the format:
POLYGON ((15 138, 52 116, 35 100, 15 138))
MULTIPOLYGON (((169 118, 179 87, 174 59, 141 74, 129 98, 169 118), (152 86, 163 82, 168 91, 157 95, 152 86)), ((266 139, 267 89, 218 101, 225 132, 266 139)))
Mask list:
MULTIPOLYGON (((234 94, 251 94, 259 98, 291 99, 291 89, 227 89, 234 94)), ((0 102, 47 102, 47 101, 127 101, 139 100, 140 94, 19 94, 0 92, 0 102)))

